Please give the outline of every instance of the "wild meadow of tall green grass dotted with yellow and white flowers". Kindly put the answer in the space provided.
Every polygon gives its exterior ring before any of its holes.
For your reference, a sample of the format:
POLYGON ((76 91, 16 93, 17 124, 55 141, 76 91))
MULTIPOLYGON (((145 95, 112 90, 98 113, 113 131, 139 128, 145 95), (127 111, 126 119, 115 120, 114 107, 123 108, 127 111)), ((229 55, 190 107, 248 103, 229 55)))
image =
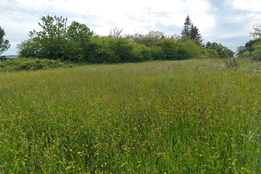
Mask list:
POLYGON ((0 173, 261 173, 261 62, 0 74, 0 173))

